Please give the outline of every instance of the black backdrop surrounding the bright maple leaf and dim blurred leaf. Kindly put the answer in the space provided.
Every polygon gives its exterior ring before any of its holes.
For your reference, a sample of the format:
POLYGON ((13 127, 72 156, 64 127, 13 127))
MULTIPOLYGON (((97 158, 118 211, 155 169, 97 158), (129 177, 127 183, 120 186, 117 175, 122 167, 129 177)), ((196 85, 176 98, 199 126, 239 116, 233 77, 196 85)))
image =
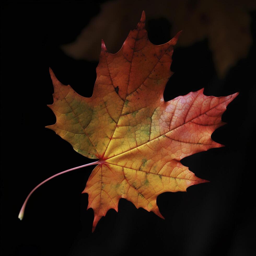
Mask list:
MULTIPOLYGON (((223 114, 228 124, 212 135, 226 147, 182 160, 210 183, 192 186, 187 193, 158 196, 165 220, 121 199, 119 212, 110 210, 92 234, 93 211, 86 210, 88 195, 81 194, 93 169, 89 166, 44 184, 28 201, 24 220, 18 219, 34 186, 91 162, 44 127, 55 123, 46 106, 53 102, 49 66, 63 84, 71 84, 83 96, 92 94, 97 63, 73 60, 59 45, 77 37, 99 13, 101 2, 2 3, 1 255, 253 255, 255 12, 250 14, 253 46, 222 80, 207 39, 174 49, 175 74, 167 83, 166 101, 203 87, 204 94, 214 96, 240 91, 223 114)), ((174 34, 165 29, 168 26, 163 19, 147 20, 151 42, 170 40, 174 34)))

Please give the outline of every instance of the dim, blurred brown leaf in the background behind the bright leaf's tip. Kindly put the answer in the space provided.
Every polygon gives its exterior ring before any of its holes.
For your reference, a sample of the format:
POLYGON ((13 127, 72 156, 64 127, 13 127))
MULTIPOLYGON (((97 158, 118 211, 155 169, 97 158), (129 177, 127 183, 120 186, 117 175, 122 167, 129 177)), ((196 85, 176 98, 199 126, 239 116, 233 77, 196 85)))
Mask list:
POLYGON ((164 19, 170 24, 169 39, 183 31, 178 46, 207 39, 216 72, 223 78, 249 52, 252 45, 249 12, 255 9, 253 0, 109 1, 101 4, 100 13, 77 39, 61 49, 74 59, 98 61, 101 39, 104 39, 107 49, 116 53, 144 10, 146 22, 164 19))

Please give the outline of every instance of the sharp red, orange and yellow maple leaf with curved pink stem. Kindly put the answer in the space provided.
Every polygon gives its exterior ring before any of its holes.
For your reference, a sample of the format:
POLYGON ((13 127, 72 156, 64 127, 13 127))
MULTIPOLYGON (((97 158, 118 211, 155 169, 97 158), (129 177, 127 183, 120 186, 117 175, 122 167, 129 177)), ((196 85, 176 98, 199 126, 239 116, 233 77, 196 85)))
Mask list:
POLYGON ((99 159, 88 164, 98 165, 83 191, 89 195, 88 208, 94 210, 92 231, 110 208, 118 211, 121 198, 163 218, 156 204, 159 194, 207 182, 180 160, 223 146, 211 134, 225 124, 221 116, 238 93, 214 97, 201 89, 164 101, 178 36, 166 44, 150 43, 143 11, 118 53, 109 53, 102 40, 90 98, 60 83, 50 69, 54 103, 49 107, 56 123, 47 127, 78 153, 99 159))

